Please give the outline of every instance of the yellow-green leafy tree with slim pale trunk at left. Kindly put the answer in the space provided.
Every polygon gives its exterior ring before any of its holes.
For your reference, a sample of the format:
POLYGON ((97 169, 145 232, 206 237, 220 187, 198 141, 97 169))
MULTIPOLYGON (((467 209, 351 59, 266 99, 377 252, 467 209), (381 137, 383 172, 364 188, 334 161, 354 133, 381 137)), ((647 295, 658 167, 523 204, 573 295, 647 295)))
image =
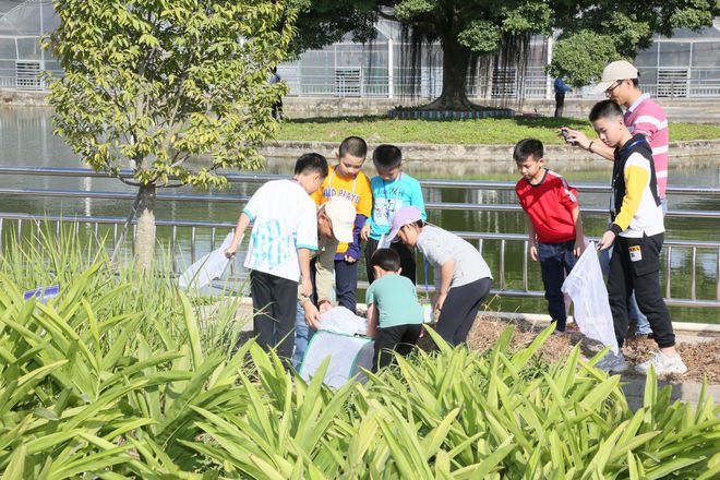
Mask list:
POLYGON ((221 168, 259 166, 277 128, 269 85, 292 37, 284 1, 55 0, 60 27, 45 46, 55 133, 96 170, 131 167, 139 188, 135 256, 155 248, 156 189, 221 187, 221 168), (189 165, 191 157, 203 161, 189 165), (173 180, 175 179, 175 180, 173 180))

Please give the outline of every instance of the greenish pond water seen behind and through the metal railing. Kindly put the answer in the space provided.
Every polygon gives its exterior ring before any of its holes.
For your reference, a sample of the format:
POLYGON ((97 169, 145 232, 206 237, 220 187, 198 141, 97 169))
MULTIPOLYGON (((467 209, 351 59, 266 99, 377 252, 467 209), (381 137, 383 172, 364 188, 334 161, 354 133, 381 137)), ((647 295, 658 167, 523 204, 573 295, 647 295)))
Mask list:
MULTIPOLYGON (((35 167, 83 167, 79 158, 61 139, 52 135, 51 110, 47 108, 0 108, 0 165, 3 166, 35 166, 35 167)), ((351 134, 351 132, 348 132, 351 134)), ((332 152, 321 152, 332 155, 332 152)), ((508 158, 508 163, 512 159, 508 158)), ((671 169, 670 182, 673 185, 711 185, 720 187, 720 167, 712 159, 698 161, 701 166, 694 168, 671 169)), ((289 173, 293 160, 284 158, 269 158, 264 171, 273 173, 289 173)), ((672 158, 671 158, 672 167, 672 158)), ((416 178, 435 178, 432 166, 422 166, 408 163, 404 170, 416 178)), ((365 172, 373 175, 372 164, 368 163, 365 172)), ((561 173, 563 173, 561 171, 561 173)), ((607 183, 610 170, 581 170, 565 175, 572 184, 607 183)), ((443 177, 446 177, 443 175, 443 177)), ((464 168, 461 179, 508 180, 516 181, 518 176, 512 171, 496 173, 479 173, 472 169, 464 168)), ((83 191, 127 191, 133 189, 115 179, 89 178, 52 178, 39 176, 0 176, 0 188, 35 188, 62 189, 83 191)), ((220 194, 250 195, 257 184, 233 184, 220 194)), ((172 192, 192 192, 192 189, 173 189, 172 192)), ((516 204, 512 191, 488 191, 468 189, 424 189, 425 202, 457 202, 457 203, 491 203, 516 204)), ((720 197, 703 195, 676 195, 669 200, 670 209, 720 211, 720 197)), ((64 216, 108 216, 125 217, 132 201, 118 200, 88 200, 88 199, 53 199, 3 195, 0 211, 12 213, 51 214, 64 216)), ((580 203, 584 206, 605 207, 607 194, 583 194, 580 203)), ((158 202, 156 217, 158 219, 187 219, 230 221, 237 220, 242 205, 219 204, 213 202, 158 202)), ((525 233, 525 216, 521 213, 496 213, 472 211, 429 211, 429 220, 448 230, 525 233)), ((604 215, 586 215, 585 229, 588 236, 600 236, 607 224, 604 215)), ((718 219, 689 219, 671 217, 667 219, 667 239, 696 239, 720 240, 720 220, 718 219)), ((159 236, 167 235, 160 229, 159 236)), ((179 251, 189 251, 189 232, 178 232, 179 251)), ((209 250, 209 236, 199 231, 196 237, 200 254, 209 250)), ((494 272, 497 272, 499 244, 487 241, 484 254, 494 272)), ((675 250, 672 255, 673 289, 676 298, 689 298, 689 252, 675 250)), ((506 251, 507 272, 506 280, 509 288, 521 288, 521 245, 509 242, 506 251)), ((718 252, 709 250, 698 251, 697 296, 699 299, 713 299, 717 285, 718 252)), ((664 263, 663 263, 664 265, 664 263)), ((541 289, 539 265, 530 265, 530 288, 541 289)), ((361 267, 363 273, 364 268, 361 267)), ((663 286, 664 288, 664 286, 663 286)), ((663 290, 664 291, 664 290, 663 290)), ((363 296, 359 296, 363 300, 363 296)), ((491 310, 544 312, 543 300, 496 298, 489 307, 491 310)), ((717 309, 688 309, 672 308, 671 313, 676 321, 720 323, 720 311, 717 309)))

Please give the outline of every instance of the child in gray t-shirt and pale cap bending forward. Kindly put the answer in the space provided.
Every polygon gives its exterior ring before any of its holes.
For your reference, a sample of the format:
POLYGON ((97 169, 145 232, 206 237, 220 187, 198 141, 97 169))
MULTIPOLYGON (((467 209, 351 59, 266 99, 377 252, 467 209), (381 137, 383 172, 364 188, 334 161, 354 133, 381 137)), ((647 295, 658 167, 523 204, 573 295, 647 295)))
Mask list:
POLYGON ((435 331, 449 345, 465 343, 492 284, 490 268, 480 252, 458 236, 425 224, 415 206, 405 206, 395 214, 388 237, 417 245, 432 263, 435 331))

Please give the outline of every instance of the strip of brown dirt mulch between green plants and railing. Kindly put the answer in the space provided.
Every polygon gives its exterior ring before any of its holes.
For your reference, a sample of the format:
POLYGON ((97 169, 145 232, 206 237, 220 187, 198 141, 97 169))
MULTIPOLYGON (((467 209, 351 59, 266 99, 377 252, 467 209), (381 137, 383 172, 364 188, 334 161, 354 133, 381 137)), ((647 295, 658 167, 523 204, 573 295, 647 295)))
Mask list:
MULTIPOLYGON (((507 322, 495 317, 478 319, 470 331, 468 344, 471 348, 484 350, 491 347, 500 335, 509 325, 515 326, 511 345, 513 348, 523 348, 529 345, 542 331, 542 326, 529 322, 507 322)), ((581 345, 583 355, 590 358, 601 346, 589 340, 580 333, 553 334, 540 348, 540 355, 549 361, 559 361, 566 358, 576 344, 581 345)), ((649 359, 658 346, 647 338, 629 338, 625 341, 623 353, 631 367, 649 359)), ((677 350, 687 365, 687 373, 683 375, 668 375, 665 380, 677 382, 701 382, 707 379, 709 384, 720 384, 720 338, 715 337, 707 341, 677 344, 677 350)), ((627 376, 643 376, 631 368, 627 376)))

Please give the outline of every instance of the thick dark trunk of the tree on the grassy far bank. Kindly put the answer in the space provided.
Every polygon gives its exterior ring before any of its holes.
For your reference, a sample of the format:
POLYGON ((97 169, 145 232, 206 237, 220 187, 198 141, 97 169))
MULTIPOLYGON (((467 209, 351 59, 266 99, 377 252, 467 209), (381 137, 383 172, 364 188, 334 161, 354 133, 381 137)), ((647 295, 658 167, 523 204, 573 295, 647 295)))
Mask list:
POLYGON ((434 101, 421 107, 428 110, 475 110, 481 108, 468 99, 466 86, 470 50, 457 41, 457 36, 442 39, 443 92, 434 101))

